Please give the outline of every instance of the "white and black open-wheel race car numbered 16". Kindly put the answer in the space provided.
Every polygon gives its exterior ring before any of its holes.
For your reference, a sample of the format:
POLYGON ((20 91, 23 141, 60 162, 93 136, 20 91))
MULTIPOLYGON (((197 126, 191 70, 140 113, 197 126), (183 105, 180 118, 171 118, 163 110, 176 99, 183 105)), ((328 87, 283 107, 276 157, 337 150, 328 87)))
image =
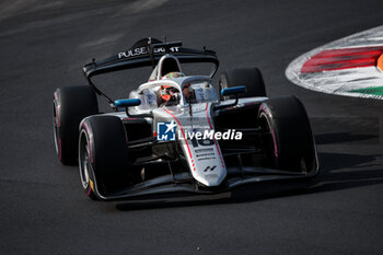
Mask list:
POLYGON ((264 181, 318 173, 310 121, 294 96, 268 98, 256 68, 223 72, 212 50, 143 38, 129 50, 85 65, 90 86, 54 93, 58 159, 79 164, 84 192, 94 199, 163 193, 211 194, 264 181), (210 63, 210 76, 187 76, 184 63, 210 63), (92 77, 153 67, 128 98, 112 100, 92 77), (97 96, 111 113, 98 112, 97 96))

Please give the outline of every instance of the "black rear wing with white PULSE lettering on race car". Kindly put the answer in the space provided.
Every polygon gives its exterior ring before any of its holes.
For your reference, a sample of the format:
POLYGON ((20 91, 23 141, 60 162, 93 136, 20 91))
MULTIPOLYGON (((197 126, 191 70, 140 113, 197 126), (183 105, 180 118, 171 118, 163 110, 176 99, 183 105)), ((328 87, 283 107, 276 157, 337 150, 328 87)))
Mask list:
POLYGON ((106 58, 101 61, 92 60, 92 62, 86 63, 83 67, 83 72, 86 77, 90 85, 95 90, 98 95, 103 95, 106 100, 113 104, 113 101, 102 93, 92 82, 91 78, 93 76, 132 69, 139 67, 150 67, 153 68, 160 60, 160 58, 165 55, 171 54, 175 56, 179 62, 211 62, 214 65, 211 70, 210 78, 212 78, 219 67, 219 60, 217 54, 213 50, 204 49, 190 49, 182 47, 182 42, 169 42, 164 43, 155 38, 143 38, 138 40, 130 49, 127 51, 118 53, 115 56, 106 58))

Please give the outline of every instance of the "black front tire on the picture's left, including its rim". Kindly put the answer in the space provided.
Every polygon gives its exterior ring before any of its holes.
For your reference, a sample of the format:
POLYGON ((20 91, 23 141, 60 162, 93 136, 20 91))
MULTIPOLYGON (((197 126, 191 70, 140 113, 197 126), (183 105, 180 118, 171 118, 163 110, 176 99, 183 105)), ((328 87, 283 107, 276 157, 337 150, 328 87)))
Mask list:
POLYGON ((91 198, 94 194, 107 196, 127 186, 127 138, 118 117, 100 115, 83 120, 79 138, 79 169, 82 187, 91 198))

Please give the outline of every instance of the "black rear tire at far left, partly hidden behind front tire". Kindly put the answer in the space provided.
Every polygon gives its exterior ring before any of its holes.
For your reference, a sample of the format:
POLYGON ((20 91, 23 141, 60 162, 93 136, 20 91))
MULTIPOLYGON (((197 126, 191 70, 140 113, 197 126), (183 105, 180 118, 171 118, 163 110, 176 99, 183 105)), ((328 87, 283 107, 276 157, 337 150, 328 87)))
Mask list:
POLYGON ((97 113, 97 98, 90 86, 67 86, 55 91, 54 138, 62 164, 77 164, 80 121, 97 113))

